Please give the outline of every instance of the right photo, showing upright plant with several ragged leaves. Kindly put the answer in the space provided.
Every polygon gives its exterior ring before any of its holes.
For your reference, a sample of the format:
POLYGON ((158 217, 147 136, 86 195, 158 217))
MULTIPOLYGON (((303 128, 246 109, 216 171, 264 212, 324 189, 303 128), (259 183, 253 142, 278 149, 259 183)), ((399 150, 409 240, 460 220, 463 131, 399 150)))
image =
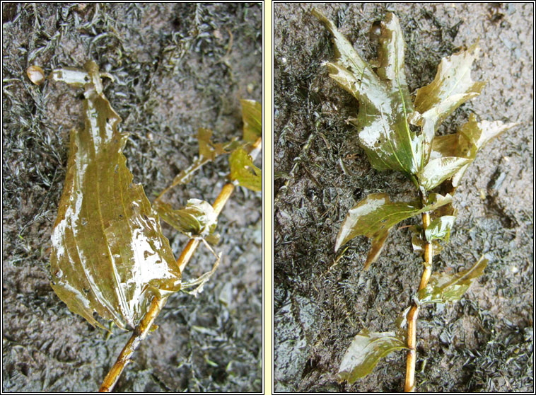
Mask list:
POLYGON ((533 18, 274 3, 276 393, 534 391, 533 18))

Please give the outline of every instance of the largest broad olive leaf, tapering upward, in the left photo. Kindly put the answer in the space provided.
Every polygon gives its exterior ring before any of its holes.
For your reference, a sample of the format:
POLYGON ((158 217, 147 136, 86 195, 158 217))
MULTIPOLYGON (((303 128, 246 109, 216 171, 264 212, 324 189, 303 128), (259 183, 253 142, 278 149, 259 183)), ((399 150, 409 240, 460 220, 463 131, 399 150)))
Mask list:
MULTIPOLYGON (((69 309, 101 326, 96 311, 134 327, 155 294, 180 288, 180 272, 143 187, 132 183, 122 149, 128 133, 102 93, 95 62, 86 71, 55 70, 86 81, 86 127, 71 132, 69 161, 52 230, 52 288, 69 309), (86 78, 86 76, 88 78, 86 78)), ((101 326, 102 327, 102 326, 101 326)))

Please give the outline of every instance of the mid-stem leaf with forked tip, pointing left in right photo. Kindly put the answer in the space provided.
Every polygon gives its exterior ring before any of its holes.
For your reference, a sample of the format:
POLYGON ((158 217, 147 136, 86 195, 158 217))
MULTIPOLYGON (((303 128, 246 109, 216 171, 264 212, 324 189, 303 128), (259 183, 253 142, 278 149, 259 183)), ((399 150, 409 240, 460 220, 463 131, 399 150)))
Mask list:
POLYGON ((436 210, 450 202, 452 202, 450 195, 441 196, 436 193, 430 194, 429 204, 425 207, 421 207, 420 202, 391 202, 386 193, 368 195, 346 214, 337 235, 335 251, 356 236, 367 236, 371 239, 372 246, 366 259, 364 268, 366 270, 380 255, 391 227, 404 219, 436 210))

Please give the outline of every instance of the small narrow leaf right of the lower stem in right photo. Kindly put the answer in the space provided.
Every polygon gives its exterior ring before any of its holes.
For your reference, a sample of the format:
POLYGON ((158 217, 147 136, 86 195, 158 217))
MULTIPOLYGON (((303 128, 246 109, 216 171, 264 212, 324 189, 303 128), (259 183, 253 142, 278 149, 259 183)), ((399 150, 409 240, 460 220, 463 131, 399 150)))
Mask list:
POLYGON ((482 256, 469 270, 455 275, 434 273, 426 287, 419 291, 419 303, 446 303, 460 300, 472 282, 484 273, 488 260, 482 256))

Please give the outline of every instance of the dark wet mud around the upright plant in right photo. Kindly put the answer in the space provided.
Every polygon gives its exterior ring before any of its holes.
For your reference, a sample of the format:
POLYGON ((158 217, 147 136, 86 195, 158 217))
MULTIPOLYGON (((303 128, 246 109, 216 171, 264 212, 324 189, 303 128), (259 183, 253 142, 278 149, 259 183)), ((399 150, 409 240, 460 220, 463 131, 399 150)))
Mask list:
MULTIPOLYGON (((455 193, 458 218, 434 270, 460 271, 486 254, 489 265, 462 300, 419 314, 418 391, 534 391, 533 381, 533 4, 318 4, 365 59, 368 31, 387 11, 407 42, 409 90, 429 84, 442 57, 480 40, 472 69, 487 80, 440 133, 470 113, 519 122, 491 142, 455 193)), ((351 339, 390 331, 419 285, 420 258, 408 229, 393 229, 363 272, 369 242, 351 241, 335 263, 334 240, 350 207, 370 193, 412 200, 404 176, 371 168, 345 120, 356 100, 327 76, 330 35, 308 4, 274 5, 276 391, 401 391, 405 354, 393 353, 356 383, 336 374, 351 339)), ((400 226, 414 224, 408 219, 400 226)))

